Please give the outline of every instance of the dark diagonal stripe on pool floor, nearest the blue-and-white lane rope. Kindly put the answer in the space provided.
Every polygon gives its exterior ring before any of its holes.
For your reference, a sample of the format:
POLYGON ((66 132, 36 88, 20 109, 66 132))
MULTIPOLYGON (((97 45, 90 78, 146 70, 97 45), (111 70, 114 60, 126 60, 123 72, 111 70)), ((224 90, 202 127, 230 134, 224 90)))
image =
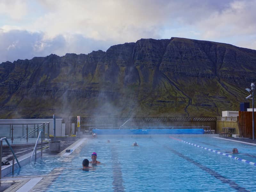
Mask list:
POLYGON ((216 179, 220 180, 222 183, 228 184, 231 188, 236 189, 237 191, 249 191, 243 187, 240 187, 238 184, 236 184, 235 181, 232 181, 222 175, 220 175, 218 172, 194 161, 193 159, 190 159, 189 157, 184 156, 183 154, 181 154, 180 152, 170 148, 169 146, 165 146, 166 148, 168 148, 170 151, 172 151, 174 154, 180 156, 181 158, 187 160, 190 163, 195 164, 197 167, 201 168, 202 170, 204 170, 205 172, 208 172, 209 174, 211 174, 213 177, 215 177, 216 179))

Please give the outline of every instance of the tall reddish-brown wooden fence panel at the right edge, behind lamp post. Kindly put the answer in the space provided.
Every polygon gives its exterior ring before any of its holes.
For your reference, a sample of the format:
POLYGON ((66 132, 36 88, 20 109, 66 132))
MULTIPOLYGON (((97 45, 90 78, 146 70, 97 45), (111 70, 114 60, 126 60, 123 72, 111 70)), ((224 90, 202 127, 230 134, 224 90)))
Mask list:
MULTIPOLYGON (((255 121, 256 112, 254 112, 254 138, 255 138, 255 121)), ((239 111, 239 132, 241 137, 252 139, 252 112, 239 111)))

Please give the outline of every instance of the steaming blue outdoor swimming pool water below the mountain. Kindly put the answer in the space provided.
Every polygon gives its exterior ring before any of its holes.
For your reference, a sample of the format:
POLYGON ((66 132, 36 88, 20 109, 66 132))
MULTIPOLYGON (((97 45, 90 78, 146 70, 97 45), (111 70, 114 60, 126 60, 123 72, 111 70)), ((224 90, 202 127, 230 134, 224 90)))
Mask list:
POLYGON ((47 192, 256 190, 256 166, 183 141, 220 152, 238 148, 241 154, 235 156, 256 162, 255 146, 210 136, 99 136, 86 139, 70 156, 43 157, 15 176, 42 177, 32 191, 47 192), (139 147, 131 146, 134 141, 139 147), (94 151, 103 164, 89 172, 79 169, 94 151))

